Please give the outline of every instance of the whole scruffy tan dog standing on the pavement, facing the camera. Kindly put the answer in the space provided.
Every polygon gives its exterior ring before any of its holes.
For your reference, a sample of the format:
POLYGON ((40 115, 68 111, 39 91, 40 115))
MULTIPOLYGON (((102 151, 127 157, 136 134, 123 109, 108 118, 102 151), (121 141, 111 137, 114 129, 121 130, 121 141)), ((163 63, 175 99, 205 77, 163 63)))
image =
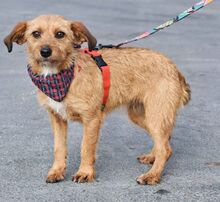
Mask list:
POLYGON ((189 85, 168 58, 143 48, 100 50, 111 73, 109 99, 102 112, 101 71, 89 55, 73 48, 83 42, 88 42, 90 50, 96 46, 96 39, 82 23, 57 15, 39 16, 18 23, 4 42, 9 52, 13 42, 27 43, 29 65, 38 75, 57 74, 74 64, 74 79, 62 102, 38 91, 39 102, 48 110, 54 132, 54 163, 47 182, 64 179, 68 120, 82 122, 84 129, 81 164, 73 181, 94 180, 95 153, 102 121, 120 105, 127 107, 130 119, 144 128, 154 141, 151 152, 138 157, 140 163, 153 165, 147 173, 137 177, 137 182, 159 182, 172 154, 169 140, 177 110, 190 100, 189 85))

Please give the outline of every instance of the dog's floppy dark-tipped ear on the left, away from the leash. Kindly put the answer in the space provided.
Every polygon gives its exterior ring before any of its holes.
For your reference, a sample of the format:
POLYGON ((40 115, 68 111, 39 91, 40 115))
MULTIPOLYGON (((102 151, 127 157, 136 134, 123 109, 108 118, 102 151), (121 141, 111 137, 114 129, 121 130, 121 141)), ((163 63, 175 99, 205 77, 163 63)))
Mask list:
POLYGON ((26 39, 24 37, 26 29, 27 23, 19 22, 11 31, 11 33, 5 37, 4 43, 7 46, 9 53, 12 51, 13 42, 16 42, 19 45, 26 42, 26 39))

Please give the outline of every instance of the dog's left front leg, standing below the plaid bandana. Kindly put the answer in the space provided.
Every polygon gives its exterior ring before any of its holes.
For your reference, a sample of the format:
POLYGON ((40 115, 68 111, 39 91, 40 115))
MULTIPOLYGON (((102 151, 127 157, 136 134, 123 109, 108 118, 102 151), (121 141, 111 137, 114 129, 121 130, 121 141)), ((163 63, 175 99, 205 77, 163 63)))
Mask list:
POLYGON ((61 119, 58 115, 49 112, 51 125, 54 133, 54 162, 48 172, 48 183, 59 182, 64 179, 66 172, 67 157, 67 121, 61 119))

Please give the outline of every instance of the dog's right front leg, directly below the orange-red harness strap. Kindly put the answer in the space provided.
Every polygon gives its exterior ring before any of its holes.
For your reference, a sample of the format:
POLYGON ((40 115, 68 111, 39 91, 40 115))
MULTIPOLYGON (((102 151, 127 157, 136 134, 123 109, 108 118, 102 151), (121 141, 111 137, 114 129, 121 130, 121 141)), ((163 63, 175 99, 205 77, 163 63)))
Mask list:
POLYGON ((73 176, 74 182, 92 182, 95 178, 95 155, 102 119, 98 116, 84 123, 84 134, 81 145, 81 163, 73 176))

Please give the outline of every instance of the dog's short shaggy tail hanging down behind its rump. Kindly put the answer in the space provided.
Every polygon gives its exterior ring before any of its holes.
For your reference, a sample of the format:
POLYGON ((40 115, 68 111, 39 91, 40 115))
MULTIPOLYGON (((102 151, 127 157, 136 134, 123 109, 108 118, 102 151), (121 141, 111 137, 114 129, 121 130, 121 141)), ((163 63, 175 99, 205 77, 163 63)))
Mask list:
POLYGON ((191 90, 188 83, 186 83, 185 78, 179 73, 179 80, 182 88, 182 96, 180 99, 180 106, 186 105, 191 99, 191 90))

